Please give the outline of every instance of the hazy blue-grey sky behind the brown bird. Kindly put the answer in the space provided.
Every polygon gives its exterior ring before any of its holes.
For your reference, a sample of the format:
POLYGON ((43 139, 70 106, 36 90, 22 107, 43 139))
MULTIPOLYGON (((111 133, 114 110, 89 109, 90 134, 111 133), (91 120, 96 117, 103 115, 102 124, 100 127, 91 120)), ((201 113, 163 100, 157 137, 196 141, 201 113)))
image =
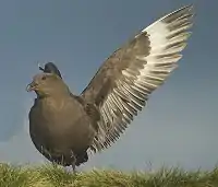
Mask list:
POLYGON ((47 162, 28 135, 38 61, 55 61, 74 94, 138 31, 183 5, 195 22, 179 68, 110 149, 82 166, 210 170, 218 163, 218 1, 2 0, 0 2, 0 161, 47 162), (152 166, 150 166, 150 164, 152 166))

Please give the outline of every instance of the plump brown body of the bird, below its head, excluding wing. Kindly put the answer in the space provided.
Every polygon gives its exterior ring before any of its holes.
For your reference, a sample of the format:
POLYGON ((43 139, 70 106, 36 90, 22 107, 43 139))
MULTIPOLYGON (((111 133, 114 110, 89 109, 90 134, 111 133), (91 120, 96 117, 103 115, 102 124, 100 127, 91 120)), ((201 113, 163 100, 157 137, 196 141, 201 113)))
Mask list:
POLYGON ((47 159, 65 166, 75 157, 76 165, 87 160, 86 151, 96 135, 95 128, 84 104, 71 94, 35 100, 29 112, 29 133, 34 144, 47 159))

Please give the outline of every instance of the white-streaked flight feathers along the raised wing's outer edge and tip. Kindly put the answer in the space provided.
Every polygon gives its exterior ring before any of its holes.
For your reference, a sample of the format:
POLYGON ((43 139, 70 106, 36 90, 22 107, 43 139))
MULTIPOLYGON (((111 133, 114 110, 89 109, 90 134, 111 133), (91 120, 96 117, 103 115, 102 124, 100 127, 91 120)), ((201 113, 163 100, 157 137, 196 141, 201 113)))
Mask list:
MULTIPOLYGON (((193 7, 181 8, 154 22, 138 35, 149 38, 149 55, 135 56, 142 69, 132 67, 122 71, 122 79, 116 80, 116 87, 109 93, 100 108, 99 133, 92 151, 101 151, 131 124, 134 116, 146 105, 154 90, 160 86, 182 58, 180 54, 186 46, 192 26, 193 7)), ((147 51, 147 49, 145 49, 147 51)), ((145 52, 146 54, 146 52, 145 52)))

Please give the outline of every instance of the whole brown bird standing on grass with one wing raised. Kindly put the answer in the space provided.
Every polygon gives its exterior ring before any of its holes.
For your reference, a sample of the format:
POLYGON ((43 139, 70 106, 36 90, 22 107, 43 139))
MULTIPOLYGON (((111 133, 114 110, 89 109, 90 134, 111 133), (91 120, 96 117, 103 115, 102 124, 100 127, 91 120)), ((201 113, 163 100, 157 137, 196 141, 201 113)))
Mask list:
POLYGON ((87 86, 73 94, 48 62, 26 86, 36 97, 29 136, 50 162, 72 166, 109 149, 146 106, 152 93, 178 68, 191 36, 193 4, 158 19, 113 51, 87 86))

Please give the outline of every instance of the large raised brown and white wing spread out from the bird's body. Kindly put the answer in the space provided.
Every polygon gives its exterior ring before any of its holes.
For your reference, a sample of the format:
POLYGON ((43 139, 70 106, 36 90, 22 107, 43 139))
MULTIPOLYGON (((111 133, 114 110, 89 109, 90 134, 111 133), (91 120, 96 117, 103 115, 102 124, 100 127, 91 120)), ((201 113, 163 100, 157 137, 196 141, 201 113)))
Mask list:
POLYGON ((154 22, 114 51, 82 92, 100 112, 92 151, 119 139, 149 95, 177 68, 192 26, 193 7, 183 7, 154 22))

